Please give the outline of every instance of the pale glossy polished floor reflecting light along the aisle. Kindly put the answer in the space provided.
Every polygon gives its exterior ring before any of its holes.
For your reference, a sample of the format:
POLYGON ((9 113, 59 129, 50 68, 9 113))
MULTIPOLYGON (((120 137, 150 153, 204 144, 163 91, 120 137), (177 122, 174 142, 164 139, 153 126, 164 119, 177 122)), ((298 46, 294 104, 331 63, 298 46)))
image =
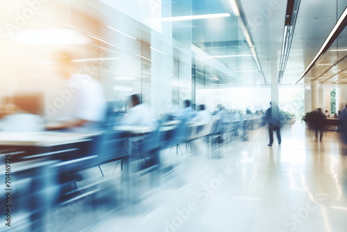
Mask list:
POLYGON ((317 141, 305 124, 282 129, 267 147, 265 128, 247 141, 196 154, 162 154, 171 171, 149 197, 103 215, 84 231, 346 232, 347 153, 339 134, 317 141))

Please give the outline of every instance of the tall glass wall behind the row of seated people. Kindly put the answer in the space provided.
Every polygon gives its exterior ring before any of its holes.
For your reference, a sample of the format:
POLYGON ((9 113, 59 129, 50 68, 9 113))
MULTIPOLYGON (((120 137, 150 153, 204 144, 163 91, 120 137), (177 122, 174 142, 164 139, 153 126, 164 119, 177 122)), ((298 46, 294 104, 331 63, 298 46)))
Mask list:
POLYGON ((73 54, 78 72, 99 81, 107 100, 124 108, 135 93, 142 94, 157 116, 185 99, 192 99, 193 106, 205 103, 210 111, 218 103, 239 110, 267 107, 269 89, 239 17, 224 1, 37 0, 2 5, 1 98, 42 92, 46 119, 62 117, 69 108, 56 65, 60 51, 73 54), (192 19, 216 14, 224 15, 192 19))

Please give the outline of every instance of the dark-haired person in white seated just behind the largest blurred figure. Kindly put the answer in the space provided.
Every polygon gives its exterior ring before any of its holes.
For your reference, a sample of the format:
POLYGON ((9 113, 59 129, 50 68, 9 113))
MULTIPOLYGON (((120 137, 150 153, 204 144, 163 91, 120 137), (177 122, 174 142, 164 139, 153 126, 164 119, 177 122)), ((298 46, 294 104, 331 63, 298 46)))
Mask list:
POLYGON ((142 103, 139 94, 130 96, 131 108, 124 115, 122 125, 124 126, 151 126, 153 117, 151 109, 146 103, 142 103))

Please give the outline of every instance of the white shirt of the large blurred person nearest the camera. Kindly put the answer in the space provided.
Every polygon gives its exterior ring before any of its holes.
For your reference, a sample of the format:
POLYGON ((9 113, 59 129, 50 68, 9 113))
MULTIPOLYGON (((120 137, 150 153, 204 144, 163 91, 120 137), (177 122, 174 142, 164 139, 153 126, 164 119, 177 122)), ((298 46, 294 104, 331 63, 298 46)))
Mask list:
POLYGON ((103 89, 98 81, 87 74, 73 74, 69 80, 69 90, 74 101, 71 117, 90 122, 103 122, 106 103, 103 89))

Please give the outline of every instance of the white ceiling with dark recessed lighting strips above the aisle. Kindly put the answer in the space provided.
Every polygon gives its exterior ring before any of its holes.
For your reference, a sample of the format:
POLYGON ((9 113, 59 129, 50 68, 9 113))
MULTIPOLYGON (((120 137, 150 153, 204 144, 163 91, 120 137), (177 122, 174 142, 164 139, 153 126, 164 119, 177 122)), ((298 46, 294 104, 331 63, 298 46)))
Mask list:
MULTIPOLYGON (((242 0, 242 5, 249 22, 253 22, 262 15, 261 9, 269 8, 271 0, 242 0)), ((268 71, 270 75, 270 60, 276 59, 279 65, 280 51, 282 46, 282 36, 285 21, 285 9, 287 1, 277 1, 278 10, 271 10, 269 19, 265 19, 264 23, 253 28, 253 38, 255 45, 260 53, 260 60, 263 69, 268 71)), ((347 6, 347 0, 326 1, 326 0, 305 0, 301 1, 296 20, 294 38, 291 44, 289 59, 282 84, 293 84, 303 74, 306 67, 310 65, 316 53, 321 48, 328 34, 335 26, 337 19, 347 6)), ((264 18, 264 17, 263 17, 264 18)), ((346 40, 347 31, 344 30, 340 34, 338 42, 332 44, 333 49, 347 48, 346 40)), ((328 51, 325 53, 319 63, 337 62, 338 58, 345 56, 347 51, 337 52, 328 51)), ((347 60, 341 62, 341 66, 346 66, 347 60)), ((312 69, 305 77, 316 78, 326 71, 331 65, 317 66, 312 69)), ((341 68, 339 68, 341 69, 341 68)), ((266 75, 266 74, 265 74, 266 75)), ((276 72, 278 75, 278 70, 276 72)), ((268 76, 269 77, 269 76, 268 76)), ((307 79, 310 81, 311 79, 307 79)), ((307 83, 307 81, 305 81, 307 83)), ((299 82, 303 83, 303 81, 299 82)))

